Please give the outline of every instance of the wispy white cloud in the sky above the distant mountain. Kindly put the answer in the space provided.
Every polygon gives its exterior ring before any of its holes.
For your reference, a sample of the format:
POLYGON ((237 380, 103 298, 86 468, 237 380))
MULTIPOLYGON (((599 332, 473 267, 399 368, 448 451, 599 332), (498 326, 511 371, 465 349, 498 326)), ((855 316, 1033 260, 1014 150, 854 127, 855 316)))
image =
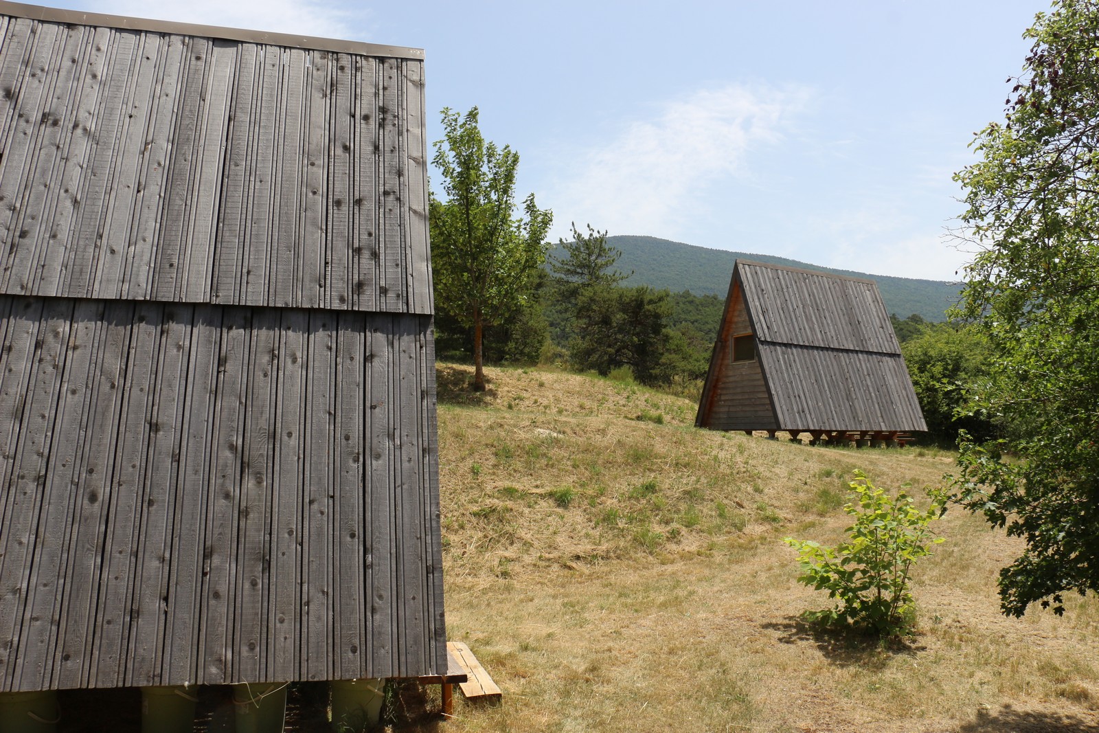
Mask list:
POLYGON ((676 238, 730 177, 751 177, 748 158, 779 144, 812 93, 804 87, 729 85, 667 100, 646 120, 623 125, 606 143, 562 155, 544 198, 554 235, 569 220, 612 234, 676 238))

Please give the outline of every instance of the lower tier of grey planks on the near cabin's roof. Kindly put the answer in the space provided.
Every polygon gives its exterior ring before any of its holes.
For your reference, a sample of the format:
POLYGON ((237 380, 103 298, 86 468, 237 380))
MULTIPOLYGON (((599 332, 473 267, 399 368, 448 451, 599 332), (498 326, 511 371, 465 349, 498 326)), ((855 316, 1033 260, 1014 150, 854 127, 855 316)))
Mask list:
POLYGON ((0 690, 445 665, 426 316, 0 309, 0 690))

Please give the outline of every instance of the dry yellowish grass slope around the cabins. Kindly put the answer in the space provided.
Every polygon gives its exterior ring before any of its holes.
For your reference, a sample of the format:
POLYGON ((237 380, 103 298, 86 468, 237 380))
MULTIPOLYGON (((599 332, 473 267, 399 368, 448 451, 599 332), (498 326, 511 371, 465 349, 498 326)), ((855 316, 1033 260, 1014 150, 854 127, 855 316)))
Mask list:
POLYGON ((919 493, 950 454, 699 431, 689 401, 592 377, 489 369, 475 396, 439 374, 448 634, 504 695, 456 693, 445 723, 413 695, 395 730, 1099 733, 1099 602, 1000 615, 1018 545, 958 509, 908 643, 799 621, 826 599, 781 537, 835 542, 855 468, 919 493))

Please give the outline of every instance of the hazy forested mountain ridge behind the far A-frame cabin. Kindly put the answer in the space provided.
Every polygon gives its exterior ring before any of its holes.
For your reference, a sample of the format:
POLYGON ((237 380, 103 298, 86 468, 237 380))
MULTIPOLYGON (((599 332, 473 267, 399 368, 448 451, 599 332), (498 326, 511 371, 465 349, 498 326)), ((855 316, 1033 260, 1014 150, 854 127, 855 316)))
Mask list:
POLYGON ((608 236, 607 242, 622 252, 619 269, 623 273, 633 270, 626 285, 667 288, 671 292, 690 290, 696 296, 714 295, 724 299, 729 292, 733 263, 737 258, 874 280, 886 310, 902 319, 918 313, 928 321, 945 321, 945 311, 954 304, 961 290, 959 285, 942 280, 868 275, 774 255, 709 249, 655 236, 615 235, 608 236))

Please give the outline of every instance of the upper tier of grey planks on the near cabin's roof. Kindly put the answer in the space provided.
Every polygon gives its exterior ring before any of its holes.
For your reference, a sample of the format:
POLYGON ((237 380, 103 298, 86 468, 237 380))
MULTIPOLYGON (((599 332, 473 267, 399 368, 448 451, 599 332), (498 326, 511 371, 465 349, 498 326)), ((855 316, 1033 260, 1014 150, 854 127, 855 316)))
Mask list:
POLYGON ((421 60, 11 18, 0 151, 2 293, 432 312, 421 60))

